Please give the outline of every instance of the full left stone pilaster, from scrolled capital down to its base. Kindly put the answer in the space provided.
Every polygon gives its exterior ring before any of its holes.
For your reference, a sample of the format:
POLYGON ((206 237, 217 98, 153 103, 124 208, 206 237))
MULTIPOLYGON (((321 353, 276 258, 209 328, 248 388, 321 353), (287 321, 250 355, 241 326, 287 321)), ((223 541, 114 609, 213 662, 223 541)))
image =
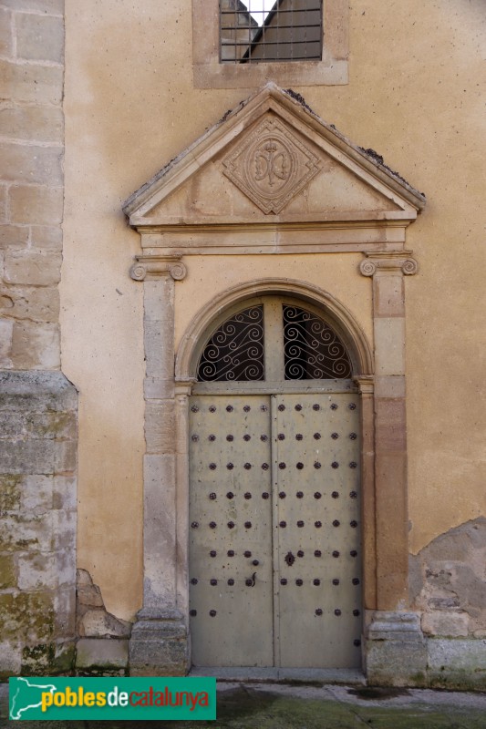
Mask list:
POLYGON ((174 285, 181 256, 137 256, 131 277, 144 282, 146 359, 143 607, 129 643, 131 675, 187 670, 187 630, 177 600, 177 454, 174 285))

